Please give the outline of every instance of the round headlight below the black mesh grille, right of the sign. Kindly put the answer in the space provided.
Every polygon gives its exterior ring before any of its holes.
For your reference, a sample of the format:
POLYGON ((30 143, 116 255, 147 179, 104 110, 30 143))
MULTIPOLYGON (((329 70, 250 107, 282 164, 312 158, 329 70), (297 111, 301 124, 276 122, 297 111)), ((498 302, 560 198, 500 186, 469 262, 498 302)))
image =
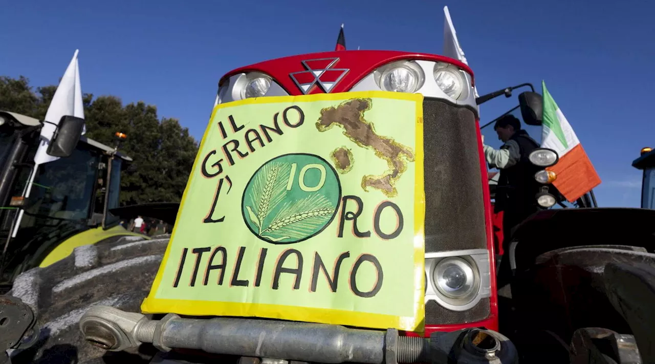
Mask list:
POLYGON ((445 258, 434 268, 434 283, 448 298, 464 298, 474 293, 476 275, 472 266, 462 258, 445 258))

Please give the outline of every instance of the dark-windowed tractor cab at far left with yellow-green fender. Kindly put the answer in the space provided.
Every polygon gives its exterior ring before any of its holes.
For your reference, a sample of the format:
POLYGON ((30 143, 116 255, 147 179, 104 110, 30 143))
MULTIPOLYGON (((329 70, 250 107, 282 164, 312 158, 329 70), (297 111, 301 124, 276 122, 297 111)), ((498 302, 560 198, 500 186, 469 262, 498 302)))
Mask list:
POLYGON ((121 170, 132 159, 80 136, 83 123, 63 117, 48 148, 58 159, 35 165, 43 121, 0 111, 0 285, 5 291, 19 273, 64 258, 91 235, 121 229, 109 209, 119 206, 121 170))

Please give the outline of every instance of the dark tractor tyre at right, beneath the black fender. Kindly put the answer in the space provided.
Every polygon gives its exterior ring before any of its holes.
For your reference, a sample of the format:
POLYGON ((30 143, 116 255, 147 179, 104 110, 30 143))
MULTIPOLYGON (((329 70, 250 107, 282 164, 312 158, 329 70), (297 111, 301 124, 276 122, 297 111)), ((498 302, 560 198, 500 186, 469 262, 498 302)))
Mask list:
POLYGON ((519 332, 548 332, 571 342, 579 329, 602 327, 633 334, 643 358, 654 357, 655 254, 643 248, 590 245, 550 251, 517 272, 511 287, 519 332))

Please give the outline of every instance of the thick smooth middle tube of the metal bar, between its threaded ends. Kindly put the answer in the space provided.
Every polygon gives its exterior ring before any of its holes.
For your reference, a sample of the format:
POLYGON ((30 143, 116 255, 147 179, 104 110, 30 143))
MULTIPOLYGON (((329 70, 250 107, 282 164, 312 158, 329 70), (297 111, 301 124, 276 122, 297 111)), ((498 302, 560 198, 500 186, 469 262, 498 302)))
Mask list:
POLYGON ((384 363, 384 331, 220 317, 174 318, 161 333, 161 344, 169 348, 319 363, 384 363))

